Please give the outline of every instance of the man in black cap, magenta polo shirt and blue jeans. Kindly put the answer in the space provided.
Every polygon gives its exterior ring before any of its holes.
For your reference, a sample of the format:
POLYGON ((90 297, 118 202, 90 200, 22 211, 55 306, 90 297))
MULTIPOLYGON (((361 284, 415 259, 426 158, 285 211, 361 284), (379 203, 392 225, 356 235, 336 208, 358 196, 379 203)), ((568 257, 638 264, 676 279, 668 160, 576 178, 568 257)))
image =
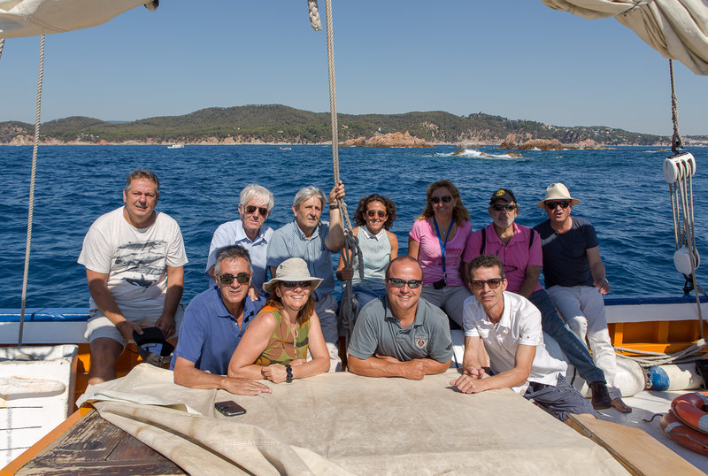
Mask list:
MULTIPOLYGON (((497 189, 489 199, 492 223, 474 232, 467 241, 464 261, 491 253, 504 265, 507 291, 526 297, 541 311, 543 332, 558 342, 567 359, 589 384, 595 410, 610 408, 612 399, 605 385, 604 373, 593 363, 585 342, 560 319, 548 293, 538 282, 543 258, 541 240, 535 231, 515 223, 519 203, 509 188, 497 189)), ((474 291, 473 289, 471 289, 474 291)))

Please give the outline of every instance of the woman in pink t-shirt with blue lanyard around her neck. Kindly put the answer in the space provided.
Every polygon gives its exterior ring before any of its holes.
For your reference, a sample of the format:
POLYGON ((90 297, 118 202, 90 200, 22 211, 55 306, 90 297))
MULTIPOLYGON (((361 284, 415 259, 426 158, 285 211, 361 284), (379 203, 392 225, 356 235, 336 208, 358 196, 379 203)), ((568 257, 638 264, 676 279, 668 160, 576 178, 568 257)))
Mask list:
POLYGON ((470 214, 458 188, 450 180, 431 183, 426 207, 408 237, 408 256, 418 259, 423 268, 420 296, 445 311, 459 326, 462 303, 472 296, 460 275, 470 234, 470 214))

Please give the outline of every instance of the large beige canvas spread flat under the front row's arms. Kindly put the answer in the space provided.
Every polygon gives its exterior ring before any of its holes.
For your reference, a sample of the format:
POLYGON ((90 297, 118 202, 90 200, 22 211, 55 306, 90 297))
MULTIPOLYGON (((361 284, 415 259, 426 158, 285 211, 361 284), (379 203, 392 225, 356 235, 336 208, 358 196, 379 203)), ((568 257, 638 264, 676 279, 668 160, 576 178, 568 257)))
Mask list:
POLYGON ((510 389, 466 395, 456 370, 423 380, 323 373, 272 394, 184 388, 142 364, 79 403, 190 474, 627 474, 605 449, 510 389), (214 411, 234 400, 236 417, 214 411), (191 411, 191 412, 189 412, 191 411), (196 412, 196 413, 195 413, 196 412))

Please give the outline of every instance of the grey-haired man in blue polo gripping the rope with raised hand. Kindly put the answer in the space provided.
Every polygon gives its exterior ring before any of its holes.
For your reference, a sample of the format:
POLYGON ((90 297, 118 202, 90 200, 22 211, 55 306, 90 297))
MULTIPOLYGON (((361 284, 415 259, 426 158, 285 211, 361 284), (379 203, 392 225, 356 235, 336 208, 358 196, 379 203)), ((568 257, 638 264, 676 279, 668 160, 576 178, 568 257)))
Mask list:
POLYGON ((344 246, 344 230, 339 213, 339 200, 344 198, 342 180, 329 192, 329 223, 321 221, 327 198, 317 187, 304 187, 296 193, 293 202, 295 219, 273 232, 268 242, 266 265, 275 278, 275 269, 290 257, 301 257, 307 263, 311 276, 323 281, 315 290, 315 312, 322 327, 322 334, 329 350, 329 371, 342 370, 339 358, 339 329, 337 327, 337 302, 332 296, 335 275, 332 273, 330 252, 344 246))

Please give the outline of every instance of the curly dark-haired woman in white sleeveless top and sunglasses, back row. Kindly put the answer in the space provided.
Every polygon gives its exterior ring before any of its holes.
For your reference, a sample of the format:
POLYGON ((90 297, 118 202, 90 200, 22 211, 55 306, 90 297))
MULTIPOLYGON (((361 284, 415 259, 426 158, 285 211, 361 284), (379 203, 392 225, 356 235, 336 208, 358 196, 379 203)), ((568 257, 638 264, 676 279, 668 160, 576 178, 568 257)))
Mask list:
MULTIPOLYGON (((355 255, 352 267, 344 267, 345 250, 339 256, 337 280, 351 280, 354 297, 359 309, 366 303, 386 294, 386 268, 389 261, 398 256, 398 239, 389 232, 396 219, 396 203, 385 196, 373 194, 359 200, 354 221, 357 223, 352 233, 358 236, 359 250, 364 262, 364 279, 358 273, 358 257, 355 255), (364 226, 366 225, 366 226, 364 226)), ((349 253, 347 253, 349 256, 349 253)))

